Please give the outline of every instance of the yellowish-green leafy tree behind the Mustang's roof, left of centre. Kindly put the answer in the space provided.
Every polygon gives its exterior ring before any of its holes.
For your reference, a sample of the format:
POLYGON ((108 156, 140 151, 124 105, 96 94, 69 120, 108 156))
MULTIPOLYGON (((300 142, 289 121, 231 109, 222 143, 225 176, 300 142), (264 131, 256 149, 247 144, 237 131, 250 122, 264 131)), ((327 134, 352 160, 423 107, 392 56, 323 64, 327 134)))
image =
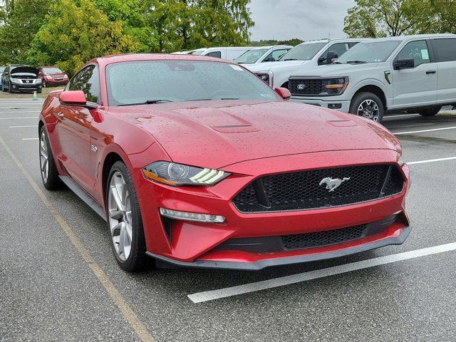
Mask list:
POLYGON ((56 65, 73 74, 91 58, 140 48, 120 21, 110 21, 92 1, 58 0, 33 38, 28 61, 36 66, 56 65))

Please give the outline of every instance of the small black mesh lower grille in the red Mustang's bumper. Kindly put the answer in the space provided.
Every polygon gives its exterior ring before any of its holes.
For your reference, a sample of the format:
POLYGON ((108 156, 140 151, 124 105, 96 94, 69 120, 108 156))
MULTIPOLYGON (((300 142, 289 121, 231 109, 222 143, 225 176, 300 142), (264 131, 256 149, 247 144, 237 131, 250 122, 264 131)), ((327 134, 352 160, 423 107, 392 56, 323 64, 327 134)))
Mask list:
POLYGON ((366 236, 367 232, 367 224, 361 224, 355 227, 327 230, 325 232, 283 235, 281 236, 281 241, 285 249, 305 249, 361 239, 366 236))

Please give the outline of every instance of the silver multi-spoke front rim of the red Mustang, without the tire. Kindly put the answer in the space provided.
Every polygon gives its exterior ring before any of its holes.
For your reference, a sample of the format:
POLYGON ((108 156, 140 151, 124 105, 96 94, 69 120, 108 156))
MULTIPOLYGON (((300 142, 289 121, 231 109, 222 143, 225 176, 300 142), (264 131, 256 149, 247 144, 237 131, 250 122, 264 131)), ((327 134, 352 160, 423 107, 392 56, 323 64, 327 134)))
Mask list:
POLYGON ((108 216, 115 253, 126 261, 131 252, 133 222, 128 186, 119 171, 113 173, 109 184, 108 216))

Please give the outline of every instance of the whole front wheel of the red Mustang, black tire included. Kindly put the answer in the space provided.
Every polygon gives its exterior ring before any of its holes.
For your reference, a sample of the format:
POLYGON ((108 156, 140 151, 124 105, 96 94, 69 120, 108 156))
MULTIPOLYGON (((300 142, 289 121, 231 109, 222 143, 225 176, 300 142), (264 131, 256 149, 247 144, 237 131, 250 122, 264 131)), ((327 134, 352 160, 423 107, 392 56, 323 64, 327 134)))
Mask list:
POLYGON ((115 260, 124 271, 140 271, 147 264, 144 228, 138 195, 123 162, 115 162, 111 167, 105 193, 106 217, 115 260))

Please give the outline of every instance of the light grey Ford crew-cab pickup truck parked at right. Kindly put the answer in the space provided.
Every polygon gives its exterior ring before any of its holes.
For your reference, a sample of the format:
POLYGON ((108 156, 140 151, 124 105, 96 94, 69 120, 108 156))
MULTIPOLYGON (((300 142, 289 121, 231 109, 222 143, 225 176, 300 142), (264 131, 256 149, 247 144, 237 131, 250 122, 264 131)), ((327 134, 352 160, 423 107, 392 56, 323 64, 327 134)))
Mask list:
POLYGON ((333 65, 290 77, 293 100, 381 122, 388 111, 423 116, 456 104, 456 35, 380 38, 359 43, 333 65))

